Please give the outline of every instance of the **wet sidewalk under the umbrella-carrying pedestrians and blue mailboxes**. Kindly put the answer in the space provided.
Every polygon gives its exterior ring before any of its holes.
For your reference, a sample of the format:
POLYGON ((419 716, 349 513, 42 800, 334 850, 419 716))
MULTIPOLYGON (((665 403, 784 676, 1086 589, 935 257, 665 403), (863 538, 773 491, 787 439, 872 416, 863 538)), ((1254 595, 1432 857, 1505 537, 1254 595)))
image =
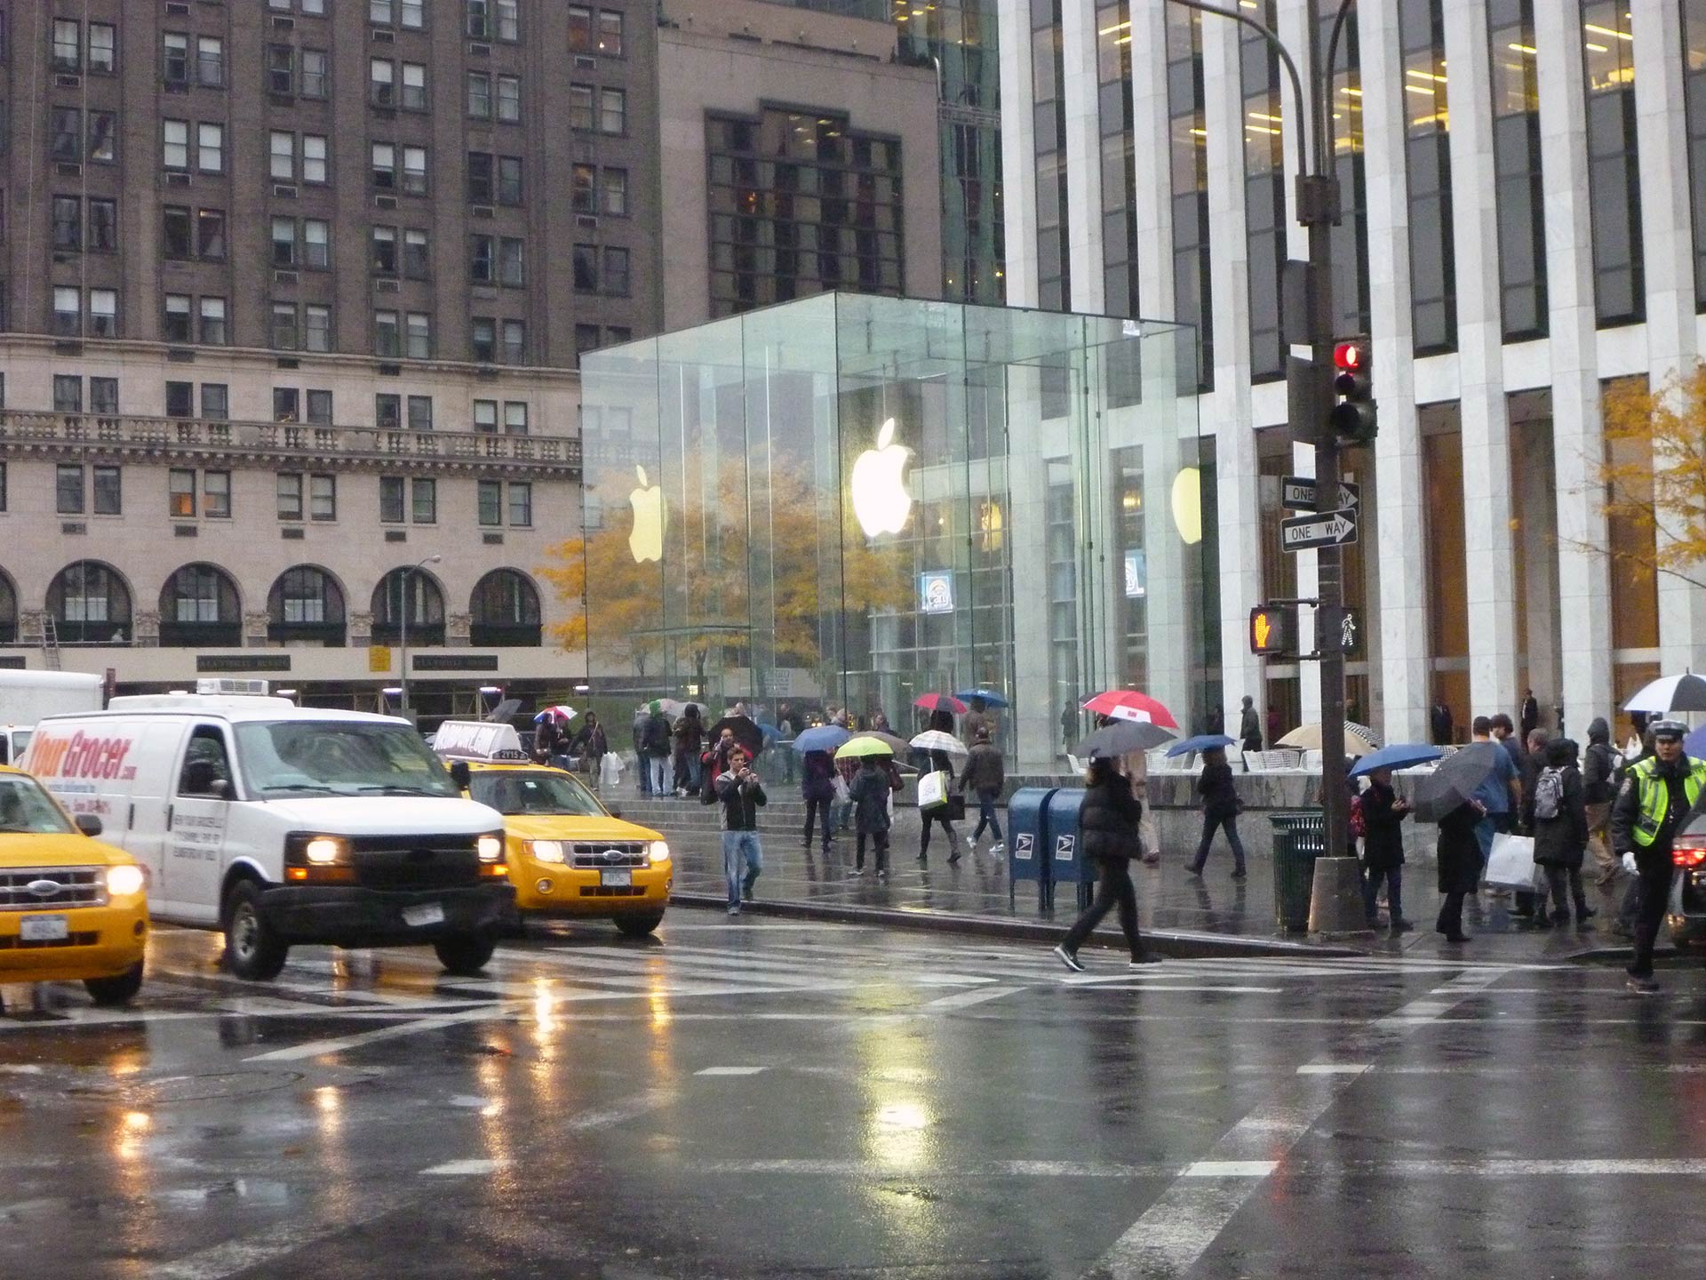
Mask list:
MULTIPOLYGON (((676 860, 676 901, 694 906, 723 906, 727 887, 722 870, 722 836, 717 809, 696 800, 638 800, 618 797, 614 804, 631 821, 662 831, 676 860)), ((763 811, 759 838, 764 847, 764 872, 757 879, 749 910, 833 920, 870 920, 872 923, 950 928, 1007 935, 1015 939, 1054 940, 1076 915, 1075 886, 1056 887, 1053 911, 1039 906, 1037 886, 1020 881, 1008 899, 1008 864, 1005 853, 993 857, 984 838, 950 864, 947 841, 940 831, 930 845, 930 860, 918 860, 918 814, 896 814, 889 853, 889 879, 873 872, 873 852, 867 850, 862 877, 855 877, 851 835, 838 836, 822 853, 814 840, 800 841, 804 809, 773 802, 763 811)), ((962 848, 974 823, 960 826, 962 848)), ((1413 858, 1404 867, 1404 915, 1414 922, 1409 934, 1392 935, 1385 927, 1372 935, 1332 939, 1312 944, 1302 934, 1281 934, 1274 923, 1273 864, 1250 855, 1249 876, 1232 879, 1232 855, 1216 847, 1201 877, 1187 870, 1189 852, 1163 850, 1160 865, 1131 864, 1138 889, 1138 922, 1152 934, 1163 954, 1322 954, 1356 949, 1373 954, 1440 956, 1465 961, 1556 963, 1590 951, 1628 945, 1616 939, 1609 923, 1616 918, 1621 884, 1612 891, 1588 887, 1588 901, 1599 910, 1592 928, 1575 927, 1522 928, 1510 913, 1512 903, 1481 894, 1465 903, 1464 925, 1471 935, 1465 945, 1450 945, 1433 932, 1440 910, 1431 860, 1413 858)), ((1382 922, 1387 918, 1380 911, 1382 922)), ((1117 944, 1119 927, 1109 913, 1097 940, 1117 944)))

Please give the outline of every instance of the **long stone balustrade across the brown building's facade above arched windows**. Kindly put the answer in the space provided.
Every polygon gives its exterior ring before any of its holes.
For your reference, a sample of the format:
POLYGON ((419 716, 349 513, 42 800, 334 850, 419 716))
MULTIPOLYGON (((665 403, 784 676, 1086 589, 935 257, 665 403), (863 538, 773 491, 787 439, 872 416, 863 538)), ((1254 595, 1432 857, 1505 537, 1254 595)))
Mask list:
POLYGON ((580 439, 295 422, 206 422, 0 410, 0 447, 118 454, 225 452, 299 464, 524 466, 580 473, 580 439))

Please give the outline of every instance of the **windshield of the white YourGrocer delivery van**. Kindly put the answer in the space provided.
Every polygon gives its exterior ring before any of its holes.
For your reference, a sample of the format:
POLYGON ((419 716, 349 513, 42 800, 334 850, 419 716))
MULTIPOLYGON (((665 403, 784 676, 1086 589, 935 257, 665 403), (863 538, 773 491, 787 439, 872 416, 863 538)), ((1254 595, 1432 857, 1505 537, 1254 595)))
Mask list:
POLYGON ((456 783, 408 725, 252 720, 235 725, 244 783, 278 795, 444 795, 456 783))

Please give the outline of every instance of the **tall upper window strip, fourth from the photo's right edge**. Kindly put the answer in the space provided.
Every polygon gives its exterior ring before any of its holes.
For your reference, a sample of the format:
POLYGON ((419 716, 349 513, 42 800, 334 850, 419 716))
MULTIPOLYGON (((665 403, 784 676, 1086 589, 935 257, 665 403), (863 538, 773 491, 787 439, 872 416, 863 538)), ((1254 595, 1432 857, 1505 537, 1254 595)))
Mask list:
POLYGON ((1436 355, 1457 348, 1443 0, 1402 0, 1399 34, 1409 176, 1411 338, 1416 355, 1436 355))

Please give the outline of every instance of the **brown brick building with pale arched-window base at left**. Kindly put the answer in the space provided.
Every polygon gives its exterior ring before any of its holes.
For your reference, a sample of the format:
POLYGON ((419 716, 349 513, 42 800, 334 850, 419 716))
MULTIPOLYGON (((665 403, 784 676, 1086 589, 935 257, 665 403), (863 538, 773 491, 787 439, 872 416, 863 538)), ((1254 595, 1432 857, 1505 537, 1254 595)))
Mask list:
POLYGON ((626 0, 0 9, 0 664, 368 705, 406 630, 423 710, 572 679, 537 570, 577 355, 660 317, 653 36, 626 0))

